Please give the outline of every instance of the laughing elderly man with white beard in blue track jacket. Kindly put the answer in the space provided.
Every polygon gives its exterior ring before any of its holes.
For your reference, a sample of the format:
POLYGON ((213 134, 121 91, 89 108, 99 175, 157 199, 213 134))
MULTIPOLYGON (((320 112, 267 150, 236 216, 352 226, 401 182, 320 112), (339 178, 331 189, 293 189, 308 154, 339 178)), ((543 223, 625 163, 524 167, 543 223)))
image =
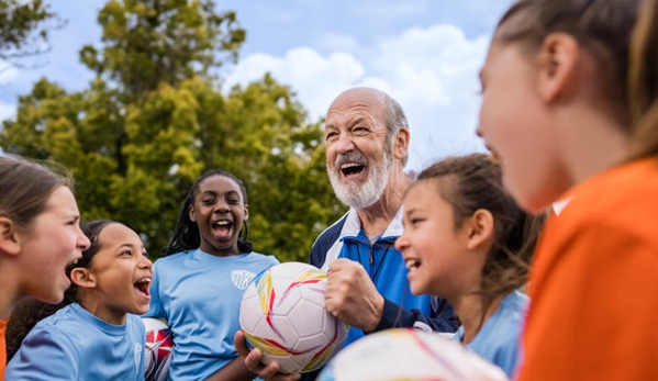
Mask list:
MULTIPOLYGON (((454 332, 454 313, 445 301, 411 293, 402 255, 393 246, 402 234, 402 198, 413 181, 404 173, 410 133, 400 104, 375 89, 347 90, 328 109, 324 139, 330 181, 350 209, 317 237, 310 262, 330 271, 326 309, 350 325, 345 345, 399 326, 454 332)), ((244 347, 242 333, 235 341, 260 377, 299 379, 278 373, 277 363, 261 365, 260 352, 244 347)))

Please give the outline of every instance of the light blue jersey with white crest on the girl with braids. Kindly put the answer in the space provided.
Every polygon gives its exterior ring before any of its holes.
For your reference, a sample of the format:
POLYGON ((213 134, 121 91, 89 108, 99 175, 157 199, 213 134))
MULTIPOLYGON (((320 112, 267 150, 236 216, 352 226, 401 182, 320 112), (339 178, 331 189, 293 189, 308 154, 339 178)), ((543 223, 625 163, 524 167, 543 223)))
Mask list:
POLYGON ((258 253, 218 257, 200 249, 156 260, 144 316, 167 320, 174 334, 169 380, 205 380, 238 356, 233 336, 244 290, 278 262, 258 253))

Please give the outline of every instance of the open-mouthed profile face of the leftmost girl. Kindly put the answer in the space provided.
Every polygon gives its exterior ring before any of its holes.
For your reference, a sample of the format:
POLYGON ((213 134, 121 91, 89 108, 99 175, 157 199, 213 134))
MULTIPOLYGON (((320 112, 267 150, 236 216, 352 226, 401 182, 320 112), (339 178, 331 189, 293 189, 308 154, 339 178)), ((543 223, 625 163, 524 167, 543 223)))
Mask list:
POLYGON ((89 239, 79 226, 80 212, 68 187, 51 193, 45 212, 37 215, 30 232, 22 234, 21 268, 25 269, 21 296, 31 295, 48 303, 58 303, 70 281, 68 264, 82 257, 89 239))

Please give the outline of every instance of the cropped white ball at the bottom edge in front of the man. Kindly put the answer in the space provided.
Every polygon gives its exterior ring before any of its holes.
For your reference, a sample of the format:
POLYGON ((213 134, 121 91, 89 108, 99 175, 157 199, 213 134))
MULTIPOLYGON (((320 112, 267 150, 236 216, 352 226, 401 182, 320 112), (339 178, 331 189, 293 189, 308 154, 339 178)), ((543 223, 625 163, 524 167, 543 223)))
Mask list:
POLYGON ((506 381, 499 367, 437 333, 392 328, 343 349, 316 381, 506 381))

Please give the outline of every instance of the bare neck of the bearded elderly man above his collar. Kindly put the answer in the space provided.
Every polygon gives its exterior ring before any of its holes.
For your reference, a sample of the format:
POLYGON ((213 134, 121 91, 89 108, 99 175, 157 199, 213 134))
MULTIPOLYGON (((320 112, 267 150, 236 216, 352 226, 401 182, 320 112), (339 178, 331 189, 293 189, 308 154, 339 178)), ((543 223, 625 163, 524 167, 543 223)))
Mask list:
POLYGON ((368 208, 356 210, 364 233, 379 235, 386 231, 402 208, 404 192, 412 181, 402 170, 392 171, 389 183, 379 200, 368 208))

